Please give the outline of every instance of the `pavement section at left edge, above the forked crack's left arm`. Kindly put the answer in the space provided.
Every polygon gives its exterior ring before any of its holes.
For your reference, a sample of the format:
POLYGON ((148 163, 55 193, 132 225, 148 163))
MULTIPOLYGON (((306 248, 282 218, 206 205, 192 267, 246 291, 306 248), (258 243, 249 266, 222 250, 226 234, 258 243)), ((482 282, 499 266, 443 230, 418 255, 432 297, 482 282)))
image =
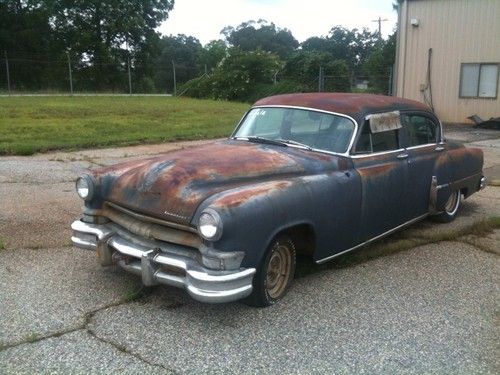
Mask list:
POLYGON ((0 347, 74 329, 87 313, 141 288, 137 277, 99 266, 91 251, 66 247, 0 254, 0 347))

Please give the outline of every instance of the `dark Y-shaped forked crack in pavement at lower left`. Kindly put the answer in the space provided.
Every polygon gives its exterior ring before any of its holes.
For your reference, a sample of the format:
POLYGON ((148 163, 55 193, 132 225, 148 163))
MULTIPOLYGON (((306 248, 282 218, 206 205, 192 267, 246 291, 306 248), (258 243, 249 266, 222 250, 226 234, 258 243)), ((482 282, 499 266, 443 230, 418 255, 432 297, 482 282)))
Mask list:
POLYGON ((120 351, 122 353, 125 353, 125 354, 127 354, 129 356, 132 356, 132 357, 134 357, 134 358, 136 358, 136 359, 138 359, 138 360, 140 360, 140 361, 148 364, 149 366, 159 367, 162 370, 170 372, 171 374, 178 374, 178 372, 176 370, 174 370, 174 369, 166 367, 166 366, 162 365, 161 363, 151 362, 148 359, 144 358, 142 355, 140 355, 138 353, 134 353, 133 351, 131 351, 130 349, 128 349, 125 345, 121 345, 121 344, 118 344, 118 343, 114 342, 113 340, 109 340, 109 339, 105 339, 103 337, 100 337, 92 328, 89 327, 90 324, 92 323, 92 320, 93 320, 94 316, 97 313, 99 313, 101 311, 106 311, 106 310, 114 308, 114 307, 118 307, 118 306, 126 305, 126 304, 129 304, 129 303, 137 302, 137 301, 139 301, 139 300, 141 300, 141 299, 149 296, 152 292, 153 292, 152 288, 149 288, 149 289, 141 288, 139 291, 134 292, 135 295, 138 296, 137 298, 130 299, 130 298, 125 297, 125 298, 120 299, 119 301, 116 301, 116 302, 107 304, 107 305, 105 305, 103 307, 100 307, 98 309, 86 312, 83 315, 83 323, 77 325, 76 327, 72 327, 72 328, 68 328, 68 329, 65 329, 65 330, 58 331, 58 332, 54 332, 54 333, 51 333, 51 334, 48 334, 48 335, 45 335, 45 336, 27 338, 27 339, 24 339, 22 341, 18 341, 16 343, 12 343, 12 344, 1 345, 0 346, 0 352, 3 352, 5 350, 11 349, 11 348, 15 348, 15 347, 20 346, 20 345, 35 344, 35 343, 38 343, 38 342, 41 342, 41 341, 44 341, 44 340, 47 340, 47 339, 61 337, 61 336, 64 336, 64 335, 67 335, 67 334, 70 334, 70 333, 73 333, 73 332, 85 331, 87 334, 89 334, 90 336, 92 336, 97 341, 100 341, 100 342, 102 342, 104 344, 107 344, 107 345, 111 345, 112 347, 114 347, 118 351, 120 351))

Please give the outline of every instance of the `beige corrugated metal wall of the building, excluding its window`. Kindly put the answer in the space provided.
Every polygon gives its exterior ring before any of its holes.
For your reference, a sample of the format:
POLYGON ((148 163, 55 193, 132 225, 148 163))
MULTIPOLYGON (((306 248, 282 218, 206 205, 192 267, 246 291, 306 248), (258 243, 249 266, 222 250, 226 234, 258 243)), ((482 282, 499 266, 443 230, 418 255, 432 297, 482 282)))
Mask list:
POLYGON ((397 96, 424 101, 421 85, 427 83, 432 48, 438 116, 446 122, 468 122, 472 114, 500 116, 500 90, 496 99, 459 98, 461 63, 500 63, 500 0, 410 0, 401 5, 399 17, 397 96), (418 27, 411 19, 418 19, 418 27))

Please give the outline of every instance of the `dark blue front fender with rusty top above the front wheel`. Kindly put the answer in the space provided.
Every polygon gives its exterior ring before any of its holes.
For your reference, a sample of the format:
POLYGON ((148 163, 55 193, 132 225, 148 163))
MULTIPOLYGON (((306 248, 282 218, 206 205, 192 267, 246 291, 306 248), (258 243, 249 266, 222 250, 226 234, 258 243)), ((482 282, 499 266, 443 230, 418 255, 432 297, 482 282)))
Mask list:
POLYGON ((243 251, 243 267, 258 267, 272 239, 282 230, 306 224, 317 234, 314 258, 350 245, 359 221, 357 175, 333 172, 288 180, 266 181, 226 190, 204 201, 193 217, 210 207, 224 223, 213 246, 243 251))

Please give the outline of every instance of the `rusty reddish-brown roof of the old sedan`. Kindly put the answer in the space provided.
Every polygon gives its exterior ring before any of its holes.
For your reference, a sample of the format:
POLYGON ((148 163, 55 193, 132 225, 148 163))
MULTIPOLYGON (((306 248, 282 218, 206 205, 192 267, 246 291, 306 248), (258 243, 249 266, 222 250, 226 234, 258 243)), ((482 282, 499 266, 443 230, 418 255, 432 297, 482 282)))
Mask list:
POLYGON ((270 96, 260 99, 255 106, 293 106, 336 112, 351 116, 359 124, 370 113, 398 110, 432 112, 431 109, 415 100, 395 96, 354 93, 300 93, 270 96))

